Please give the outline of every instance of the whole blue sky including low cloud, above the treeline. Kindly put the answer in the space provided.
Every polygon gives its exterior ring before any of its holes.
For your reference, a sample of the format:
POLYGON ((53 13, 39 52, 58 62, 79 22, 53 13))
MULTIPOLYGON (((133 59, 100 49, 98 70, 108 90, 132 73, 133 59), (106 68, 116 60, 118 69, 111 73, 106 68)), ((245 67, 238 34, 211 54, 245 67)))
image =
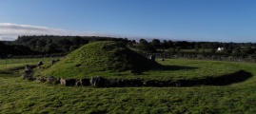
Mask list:
POLYGON ((0 40, 42 34, 256 43, 256 0, 0 0, 0 40))

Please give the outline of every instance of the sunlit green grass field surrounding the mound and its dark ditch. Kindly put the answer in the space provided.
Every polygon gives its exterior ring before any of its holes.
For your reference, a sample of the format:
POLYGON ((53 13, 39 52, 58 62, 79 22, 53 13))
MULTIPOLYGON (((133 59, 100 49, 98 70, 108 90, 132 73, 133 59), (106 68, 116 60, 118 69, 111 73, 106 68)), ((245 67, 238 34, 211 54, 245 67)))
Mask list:
MULTIPOLYGON (((225 86, 93 88, 23 81, 20 76, 26 64, 0 65, 0 113, 256 112, 256 64, 195 60, 158 62, 172 67, 172 70, 149 70, 139 76, 159 80, 200 79, 236 70, 245 70, 253 76, 244 82, 225 86)), ((106 76, 118 77, 110 74, 106 76)), ((124 77, 136 78, 129 74, 121 78, 124 77)))

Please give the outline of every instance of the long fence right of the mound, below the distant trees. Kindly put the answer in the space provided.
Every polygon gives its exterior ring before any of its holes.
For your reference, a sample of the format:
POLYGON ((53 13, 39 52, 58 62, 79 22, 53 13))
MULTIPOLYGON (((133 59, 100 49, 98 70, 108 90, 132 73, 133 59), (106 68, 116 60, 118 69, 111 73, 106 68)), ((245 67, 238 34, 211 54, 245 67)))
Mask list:
POLYGON ((228 61, 228 62, 248 62, 256 63, 256 58, 243 57, 243 56, 203 56, 196 54, 174 54, 174 53, 143 53, 144 56, 149 57, 155 55, 156 58, 165 59, 191 59, 191 60, 211 60, 211 61, 228 61))

